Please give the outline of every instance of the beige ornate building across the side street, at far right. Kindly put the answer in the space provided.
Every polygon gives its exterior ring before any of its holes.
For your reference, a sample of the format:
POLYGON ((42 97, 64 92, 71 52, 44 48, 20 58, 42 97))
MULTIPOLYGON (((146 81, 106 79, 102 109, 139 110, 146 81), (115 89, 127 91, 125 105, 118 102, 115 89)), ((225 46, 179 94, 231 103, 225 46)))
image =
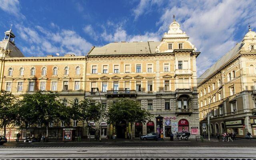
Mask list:
POLYGON ((256 136, 255 38, 256 33, 249 29, 240 43, 198 79, 200 126, 203 129, 205 123, 208 133, 209 108, 212 136, 223 132, 256 136))

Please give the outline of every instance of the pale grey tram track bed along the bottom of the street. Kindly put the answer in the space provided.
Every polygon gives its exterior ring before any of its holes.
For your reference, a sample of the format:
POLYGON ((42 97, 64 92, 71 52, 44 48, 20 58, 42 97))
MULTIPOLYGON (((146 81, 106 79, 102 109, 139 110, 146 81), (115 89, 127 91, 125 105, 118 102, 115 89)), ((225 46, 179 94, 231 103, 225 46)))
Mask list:
POLYGON ((256 148, 243 147, 78 147, 78 148, 1 148, 0 159, 24 160, 232 160, 254 159, 256 148), (90 159, 89 159, 90 158, 90 159))

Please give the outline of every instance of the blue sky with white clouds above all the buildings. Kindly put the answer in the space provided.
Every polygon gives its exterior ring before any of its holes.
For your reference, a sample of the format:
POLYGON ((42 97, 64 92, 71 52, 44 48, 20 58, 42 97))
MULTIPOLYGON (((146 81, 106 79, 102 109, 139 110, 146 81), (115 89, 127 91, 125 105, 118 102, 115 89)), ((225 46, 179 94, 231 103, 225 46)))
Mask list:
MULTIPOLYGON (((120 41, 159 41, 172 15, 201 52, 198 76, 256 28, 255 0, 0 0, 25 56, 74 53, 120 41)), ((255 30, 254 30, 255 31, 255 30)))

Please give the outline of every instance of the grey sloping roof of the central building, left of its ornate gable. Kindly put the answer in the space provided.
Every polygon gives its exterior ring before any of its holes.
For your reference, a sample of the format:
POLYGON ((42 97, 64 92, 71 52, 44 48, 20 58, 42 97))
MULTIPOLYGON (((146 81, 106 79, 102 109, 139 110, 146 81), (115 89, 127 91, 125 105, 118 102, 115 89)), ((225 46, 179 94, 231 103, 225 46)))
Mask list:
POLYGON ((153 54, 161 42, 114 42, 102 47, 95 47, 89 56, 107 56, 123 54, 153 54))

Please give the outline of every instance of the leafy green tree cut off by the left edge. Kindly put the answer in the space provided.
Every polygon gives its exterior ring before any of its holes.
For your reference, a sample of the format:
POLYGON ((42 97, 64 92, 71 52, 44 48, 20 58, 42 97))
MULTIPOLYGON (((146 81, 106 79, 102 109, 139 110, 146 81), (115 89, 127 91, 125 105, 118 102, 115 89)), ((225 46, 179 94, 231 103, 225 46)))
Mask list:
POLYGON ((16 98, 11 92, 2 90, 0 94, 0 127, 4 128, 4 136, 6 135, 6 126, 15 123, 16 113, 16 98))

